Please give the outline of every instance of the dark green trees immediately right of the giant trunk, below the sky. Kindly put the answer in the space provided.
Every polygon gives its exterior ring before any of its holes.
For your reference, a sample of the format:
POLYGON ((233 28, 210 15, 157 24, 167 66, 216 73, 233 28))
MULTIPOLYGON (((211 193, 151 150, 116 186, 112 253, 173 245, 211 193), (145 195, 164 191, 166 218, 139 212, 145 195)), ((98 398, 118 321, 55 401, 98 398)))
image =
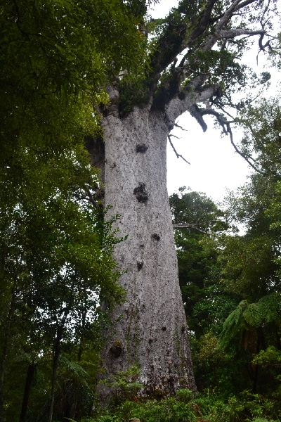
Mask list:
POLYGON ((218 340, 237 300, 220 283, 217 238, 226 236, 227 216, 203 193, 185 193, 184 187, 170 197, 170 203, 173 223, 179 225, 178 270, 197 388, 216 389, 225 397, 240 385, 233 376, 233 354, 226 354, 218 340), (181 224, 187 227, 181 229, 181 224))

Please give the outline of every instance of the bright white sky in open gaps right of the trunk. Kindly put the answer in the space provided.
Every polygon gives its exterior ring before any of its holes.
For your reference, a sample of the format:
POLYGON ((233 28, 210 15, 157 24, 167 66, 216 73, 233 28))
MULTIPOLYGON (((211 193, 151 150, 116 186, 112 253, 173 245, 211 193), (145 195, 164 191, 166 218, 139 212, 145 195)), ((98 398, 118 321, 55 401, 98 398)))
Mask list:
MULTIPOLYGON (((151 15, 154 18, 164 17, 169 13, 171 7, 177 4, 177 0, 161 0, 160 4, 154 6, 155 10, 151 12, 151 15)), ((258 39, 252 55, 247 53, 248 63, 257 73, 269 70, 261 53, 259 54, 259 65, 256 65, 257 52, 258 39)), ((271 89, 266 93, 267 95, 275 94, 280 79, 276 70, 271 71, 271 74, 274 77, 272 77, 271 89)), ((185 113, 177 121, 187 132, 174 129, 172 133, 181 139, 172 137, 171 141, 178 154, 183 155, 190 165, 181 158, 176 158, 168 144, 167 186, 169 194, 177 191, 181 186, 190 186, 193 191, 204 192, 207 196, 219 201, 225 196, 226 189, 235 190, 247 181, 247 174, 251 172, 247 162, 235 153, 230 138, 228 136, 221 137, 221 130, 214 129, 212 118, 206 117, 205 120, 208 124, 205 133, 189 113, 185 113)), ((235 143, 241 137, 242 132, 233 133, 235 143)))

